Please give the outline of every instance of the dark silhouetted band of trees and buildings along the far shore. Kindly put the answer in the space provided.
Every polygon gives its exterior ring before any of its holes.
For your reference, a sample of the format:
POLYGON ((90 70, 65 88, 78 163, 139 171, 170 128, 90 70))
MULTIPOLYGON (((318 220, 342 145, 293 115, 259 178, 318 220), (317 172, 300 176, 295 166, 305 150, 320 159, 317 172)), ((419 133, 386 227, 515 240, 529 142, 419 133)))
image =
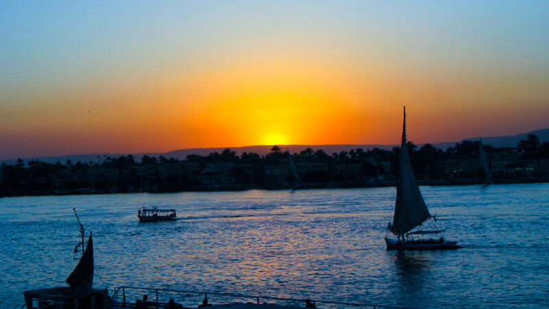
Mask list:
MULTIPOLYGON (((408 142, 412 168, 423 185, 484 183, 478 141, 462 141, 443 151, 408 142)), ((105 157, 100 163, 45 163, 19 159, 0 166, 0 196, 185 192, 283 188, 374 187, 395 185, 401 149, 327 154, 307 148, 290 155, 273 146, 267 155, 227 148, 185 160, 132 155, 105 157), (292 165, 294 168, 292 168, 292 165)), ((549 142, 528 135, 516 148, 484 145, 493 183, 549 181, 549 142)))

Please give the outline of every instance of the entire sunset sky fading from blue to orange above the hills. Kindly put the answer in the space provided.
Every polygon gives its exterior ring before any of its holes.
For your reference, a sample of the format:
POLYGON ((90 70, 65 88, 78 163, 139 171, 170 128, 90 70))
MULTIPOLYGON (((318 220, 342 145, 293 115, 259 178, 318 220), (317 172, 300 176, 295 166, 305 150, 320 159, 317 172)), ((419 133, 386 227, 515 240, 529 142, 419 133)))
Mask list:
POLYGON ((4 1, 0 159, 549 128, 548 1, 4 1))

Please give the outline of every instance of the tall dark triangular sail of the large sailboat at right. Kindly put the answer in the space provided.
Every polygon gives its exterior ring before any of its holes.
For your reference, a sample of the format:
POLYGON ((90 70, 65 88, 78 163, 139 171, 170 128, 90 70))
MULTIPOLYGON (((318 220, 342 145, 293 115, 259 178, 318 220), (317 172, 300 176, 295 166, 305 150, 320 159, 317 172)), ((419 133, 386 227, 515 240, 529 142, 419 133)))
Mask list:
POLYGON ((390 226, 391 231, 398 236, 403 236, 407 231, 431 218, 431 214, 417 186, 406 144, 406 108, 404 108, 397 202, 395 203, 393 225, 390 226))

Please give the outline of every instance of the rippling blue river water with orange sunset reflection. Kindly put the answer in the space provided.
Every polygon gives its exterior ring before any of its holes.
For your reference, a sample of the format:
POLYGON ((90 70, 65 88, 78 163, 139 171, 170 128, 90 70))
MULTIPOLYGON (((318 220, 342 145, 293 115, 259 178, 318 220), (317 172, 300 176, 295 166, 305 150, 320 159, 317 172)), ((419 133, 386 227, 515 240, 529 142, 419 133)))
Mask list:
POLYGON ((94 286, 111 293, 127 285, 417 308, 549 307, 549 184, 421 191, 463 249, 386 251, 393 187, 0 198, 0 308, 21 308, 23 290, 66 286, 80 236, 73 207, 93 231, 94 286), (153 205, 180 219, 140 223, 137 209, 153 205))

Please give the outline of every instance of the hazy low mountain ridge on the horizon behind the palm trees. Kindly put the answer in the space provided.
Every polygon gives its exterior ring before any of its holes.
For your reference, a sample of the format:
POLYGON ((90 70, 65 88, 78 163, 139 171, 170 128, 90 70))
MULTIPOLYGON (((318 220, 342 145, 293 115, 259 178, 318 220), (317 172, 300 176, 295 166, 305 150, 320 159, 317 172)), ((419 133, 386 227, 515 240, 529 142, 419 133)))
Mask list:
MULTIPOLYGON (((509 135, 509 136, 496 136, 496 137, 484 137, 482 136, 482 143, 483 144, 490 144, 493 147, 500 148, 500 147, 509 147, 509 148, 515 148, 517 147, 517 144, 520 140, 526 139, 526 136, 534 134, 539 137, 539 141, 543 143, 544 141, 549 141, 549 128, 542 129, 542 130, 535 130, 528 133, 522 133, 519 135, 509 135)), ((476 141, 478 140, 478 137, 471 137, 467 139, 462 139, 461 141, 476 141)), ((436 148, 441 148, 442 150, 446 150, 449 147, 453 147, 456 144, 460 143, 461 141, 446 141, 442 143, 436 143, 432 144, 432 146, 435 146, 436 148)), ((418 148, 423 146, 424 144, 417 144, 418 148)), ((313 150, 324 150, 328 155, 332 155, 334 152, 341 152, 341 151, 347 151, 349 152, 351 149, 358 149, 362 148, 363 150, 371 150, 373 148, 379 148, 384 150, 392 150, 394 147, 400 147, 400 144, 394 144, 394 145, 379 145, 379 144, 369 144, 369 145, 278 145, 282 150, 290 150, 292 153, 299 153, 301 150, 305 150, 306 148, 312 148, 313 150)), ((237 152, 237 155, 242 155, 244 152, 255 152, 259 155, 266 155, 270 152, 272 146, 245 146, 245 147, 220 147, 220 148, 191 148, 191 149, 180 149, 180 150, 173 150, 170 152, 147 152, 147 153, 139 153, 139 154, 132 154, 135 157, 136 161, 140 161, 141 157, 144 155, 148 155, 150 157, 160 157, 163 156, 166 159, 178 159, 183 160, 187 157, 187 155, 201 155, 201 156, 207 156, 211 152, 222 152, 226 148, 229 148, 235 152, 237 152)), ((93 163, 101 163, 101 161, 104 161, 106 157, 111 158, 117 158, 121 156, 126 156, 128 154, 117 154, 117 153, 102 153, 102 154, 91 154, 91 155, 65 155, 65 156, 58 156, 58 157, 34 157, 34 158, 21 158, 25 161, 29 160, 38 160, 43 161, 47 163, 56 163, 60 162, 62 164, 67 163, 67 160, 71 160, 73 163, 76 163, 78 161, 80 162, 89 162, 92 161, 93 163)), ((13 164, 16 162, 16 159, 12 160, 3 160, 0 161, 1 163, 6 164, 13 164)))

